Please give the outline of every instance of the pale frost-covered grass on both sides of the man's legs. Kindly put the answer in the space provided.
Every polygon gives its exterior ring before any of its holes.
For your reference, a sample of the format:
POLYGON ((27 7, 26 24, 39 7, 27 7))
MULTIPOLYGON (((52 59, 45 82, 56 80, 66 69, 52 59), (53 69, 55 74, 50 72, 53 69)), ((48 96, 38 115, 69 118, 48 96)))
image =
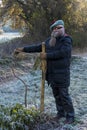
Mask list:
MULTIPOLYGON (((41 71, 29 71, 20 77, 28 84, 28 105, 40 107, 41 71)), ((87 58, 72 58, 70 95, 73 100, 76 119, 82 121, 73 130, 87 130, 87 58)), ((24 104, 25 88, 23 83, 14 78, 0 84, 0 104, 24 104)), ((56 107, 51 88, 45 83, 45 112, 55 115, 56 107)), ((67 129, 68 130, 68 129, 67 129)))

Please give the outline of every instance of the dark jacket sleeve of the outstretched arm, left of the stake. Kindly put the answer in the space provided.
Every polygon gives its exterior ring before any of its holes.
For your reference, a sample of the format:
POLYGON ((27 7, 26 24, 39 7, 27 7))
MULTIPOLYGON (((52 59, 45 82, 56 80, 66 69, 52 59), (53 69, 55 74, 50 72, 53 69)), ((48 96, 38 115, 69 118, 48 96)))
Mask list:
POLYGON ((37 45, 30 45, 23 48, 23 52, 33 53, 33 52, 41 52, 41 43, 37 45))

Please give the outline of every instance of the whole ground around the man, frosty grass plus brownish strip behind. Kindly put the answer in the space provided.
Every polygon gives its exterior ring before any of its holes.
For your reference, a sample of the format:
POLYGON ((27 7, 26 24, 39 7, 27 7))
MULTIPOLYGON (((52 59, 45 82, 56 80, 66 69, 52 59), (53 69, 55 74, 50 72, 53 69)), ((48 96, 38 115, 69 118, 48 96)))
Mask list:
MULTIPOLYGON (((67 125, 63 123, 64 119, 59 122, 54 120, 53 117, 56 115, 55 101, 52 91, 46 83, 45 113, 48 113, 52 118, 44 124, 38 124, 35 130, 87 130, 87 55, 86 53, 79 54, 76 52, 73 52, 73 55, 70 95, 76 113, 75 123, 67 125)), ((14 68, 15 74, 29 85, 28 105, 33 104, 37 108, 40 106, 41 71, 39 69, 32 70, 34 59, 18 60, 16 64, 14 62, 9 63, 7 59, 5 64, 3 64, 3 61, 1 62, 0 104, 13 105, 17 102, 24 104, 24 87, 21 81, 14 76, 12 72, 12 68, 14 68)))

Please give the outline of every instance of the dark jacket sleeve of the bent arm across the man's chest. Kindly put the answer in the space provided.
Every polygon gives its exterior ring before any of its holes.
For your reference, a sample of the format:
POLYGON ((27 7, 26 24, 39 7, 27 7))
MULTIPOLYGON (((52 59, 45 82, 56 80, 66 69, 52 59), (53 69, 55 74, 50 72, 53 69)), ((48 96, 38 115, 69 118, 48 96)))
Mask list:
POLYGON ((61 48, 54 51, 47 53, 47 59, 60 59, 60 58, 65 58, 71 57, 71 50, 72 50, 72 39, 70 37, 66 37, 62 43, 61 43, 61 48))

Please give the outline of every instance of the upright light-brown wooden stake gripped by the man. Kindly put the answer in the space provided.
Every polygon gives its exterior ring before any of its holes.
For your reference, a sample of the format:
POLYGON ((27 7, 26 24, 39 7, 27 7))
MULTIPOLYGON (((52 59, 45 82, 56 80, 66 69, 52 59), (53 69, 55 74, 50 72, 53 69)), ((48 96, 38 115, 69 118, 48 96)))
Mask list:
MULTIPOLYGON (((45 42, 42 43, 42 52, 45 52, 45 42)), ((41 81, 41 106, 40 111, 44 111, 44 90, 45 90, 45 78, 46 78, 46 60, 43 59, 41 63, 42 68, 42 81, 41 81)))

